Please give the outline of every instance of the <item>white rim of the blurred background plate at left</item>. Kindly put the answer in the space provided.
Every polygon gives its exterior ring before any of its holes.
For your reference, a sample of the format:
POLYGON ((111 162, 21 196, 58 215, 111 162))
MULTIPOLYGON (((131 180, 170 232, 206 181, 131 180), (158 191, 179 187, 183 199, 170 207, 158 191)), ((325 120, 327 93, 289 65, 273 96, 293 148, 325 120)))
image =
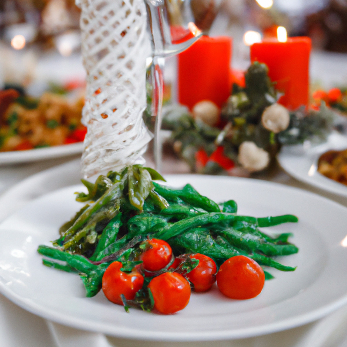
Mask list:
POLYGON ((82 151, 83 142, 76 142, 61 146, 36 148, 26 151, 0 152, 0 165, 60 158, 63 156, 82 153, 82 151))

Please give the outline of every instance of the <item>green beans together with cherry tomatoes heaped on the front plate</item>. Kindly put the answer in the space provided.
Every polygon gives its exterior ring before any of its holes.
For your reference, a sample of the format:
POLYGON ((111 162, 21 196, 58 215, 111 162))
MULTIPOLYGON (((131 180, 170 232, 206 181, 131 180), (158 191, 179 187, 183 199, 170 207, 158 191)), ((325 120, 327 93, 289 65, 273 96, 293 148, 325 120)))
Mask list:
POLYGON ((297 222, 294 215, 239 215, 234 200, 217 204, 190 184, 174 189, 158 180, 164 179, 141 165, 100 175, 94 184, 82 179, 87 193, 76 200, 86 204, 61 226, 53 247, 39 246, 43 264, 79 273, 87 297, 102 289, 126 310, 163 314, 183 309, 191 291, 209 290, 216 278, 226 296, 249 299, 273 278, 268 268, 295 270, 273 259, 298 252, 292 234, 260 229, 297 222))

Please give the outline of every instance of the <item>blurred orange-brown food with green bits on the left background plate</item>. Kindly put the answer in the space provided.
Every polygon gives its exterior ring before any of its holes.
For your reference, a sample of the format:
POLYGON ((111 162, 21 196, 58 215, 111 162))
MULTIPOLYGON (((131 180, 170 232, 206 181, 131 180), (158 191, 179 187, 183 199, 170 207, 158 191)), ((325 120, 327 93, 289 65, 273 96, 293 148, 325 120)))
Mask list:
POLYGON ((0 91, 0 151, 20 151, 81 142, 84 98, 58 93, 33 98, 17 89, 0 91))

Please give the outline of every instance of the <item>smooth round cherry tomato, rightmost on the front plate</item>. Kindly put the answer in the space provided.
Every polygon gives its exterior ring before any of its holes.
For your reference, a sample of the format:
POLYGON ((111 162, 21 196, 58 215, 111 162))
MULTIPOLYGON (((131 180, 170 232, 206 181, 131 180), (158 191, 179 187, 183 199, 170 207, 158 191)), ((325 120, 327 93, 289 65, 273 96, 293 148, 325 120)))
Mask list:
POLYGON ((260 265, 244 255, 226 260, 217 273, 219 290, 231 299, 251 299, 260 294, 265 275, 260 265))

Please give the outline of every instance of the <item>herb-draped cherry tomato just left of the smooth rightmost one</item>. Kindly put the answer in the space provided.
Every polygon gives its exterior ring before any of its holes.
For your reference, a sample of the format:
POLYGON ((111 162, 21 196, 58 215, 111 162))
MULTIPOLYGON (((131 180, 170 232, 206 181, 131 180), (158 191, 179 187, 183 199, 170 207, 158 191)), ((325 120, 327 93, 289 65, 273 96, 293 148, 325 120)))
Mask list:
POLYGON ((216 281, 217 265, 207 255, 195 253, 189 255, 191 259, 198 259, 198 265, 187 273, 187 278, 194 285, 194 291, 209 290, 216 281))

